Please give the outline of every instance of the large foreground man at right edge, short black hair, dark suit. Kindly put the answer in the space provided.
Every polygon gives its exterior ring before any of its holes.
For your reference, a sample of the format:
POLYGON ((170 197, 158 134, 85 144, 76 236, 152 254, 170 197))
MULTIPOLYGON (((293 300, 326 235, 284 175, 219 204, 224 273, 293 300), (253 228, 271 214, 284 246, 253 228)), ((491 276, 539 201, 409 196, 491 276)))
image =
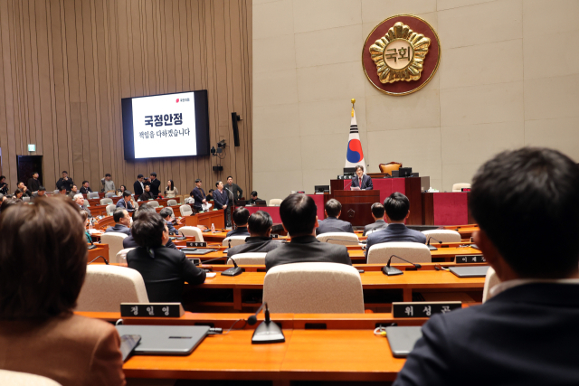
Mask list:
POLYGON ((394 386, 576 385, 579 168, 525 147, 480 166, 471 189, 473 238, 500 283, 480 306, 433 315, 394 386))

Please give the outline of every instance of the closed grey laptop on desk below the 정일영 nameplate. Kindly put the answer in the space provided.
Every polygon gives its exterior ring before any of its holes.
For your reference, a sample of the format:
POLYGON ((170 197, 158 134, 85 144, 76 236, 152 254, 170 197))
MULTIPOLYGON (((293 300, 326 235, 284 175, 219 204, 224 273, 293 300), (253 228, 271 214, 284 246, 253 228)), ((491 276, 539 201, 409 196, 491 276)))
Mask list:
POLYGON ((206 325, 117 325, 119 335, 140 335, 136 355, 189 355, 209 332, 206 325))

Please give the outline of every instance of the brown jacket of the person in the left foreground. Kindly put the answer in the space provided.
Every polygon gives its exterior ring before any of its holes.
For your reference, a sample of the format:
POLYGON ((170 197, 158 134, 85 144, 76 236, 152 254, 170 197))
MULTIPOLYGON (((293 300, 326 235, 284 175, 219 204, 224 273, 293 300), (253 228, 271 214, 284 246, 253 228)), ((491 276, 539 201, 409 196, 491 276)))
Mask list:
POLYGON ((62 386, 124 385, 119 346, 113 325, 81 315, 0 321, 0 368, 62 386))

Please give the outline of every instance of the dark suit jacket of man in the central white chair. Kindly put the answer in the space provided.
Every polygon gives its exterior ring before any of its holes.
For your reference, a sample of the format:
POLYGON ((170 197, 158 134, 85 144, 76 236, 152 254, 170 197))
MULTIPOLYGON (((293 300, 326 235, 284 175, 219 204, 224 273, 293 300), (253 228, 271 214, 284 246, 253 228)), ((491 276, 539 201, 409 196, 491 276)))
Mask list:
POLYGON ((352 265, 346 246, 319 242, 314 236, 298 236, 265 256, 265 269, 290 263, 341 263, 352 265))

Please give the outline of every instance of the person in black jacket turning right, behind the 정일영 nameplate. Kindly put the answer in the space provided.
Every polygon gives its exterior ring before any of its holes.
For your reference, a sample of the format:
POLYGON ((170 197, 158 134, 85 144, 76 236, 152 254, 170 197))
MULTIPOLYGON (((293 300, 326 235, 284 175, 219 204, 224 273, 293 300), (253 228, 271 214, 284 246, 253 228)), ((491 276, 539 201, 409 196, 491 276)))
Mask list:
POLYGON ((205 271, 195 267, 185 253, 165 248, 169 230, 157 212, 138 216, 132 233, 138 248, 128 252, 127 264, 143 277, 149 302, 181 302, 185 281, 191 286, 205 281, 205 271))

